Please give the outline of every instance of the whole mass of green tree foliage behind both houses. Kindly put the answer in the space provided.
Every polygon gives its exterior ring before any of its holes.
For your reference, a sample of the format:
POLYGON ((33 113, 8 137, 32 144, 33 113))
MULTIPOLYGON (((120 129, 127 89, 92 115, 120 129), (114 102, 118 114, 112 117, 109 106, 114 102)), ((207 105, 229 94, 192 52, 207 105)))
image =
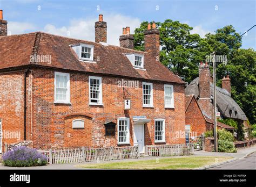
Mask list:
MULTIPOLYGON (((232 97, 245 112, 251 124, 256 121, 256 52, 254 49, 241 49, 240 34, 232 25, 208 33, 205 38, 191 34, 193 27, 179 21, 166 19, 157 23, 160 32, 160 61, 166 67, 178 74, 184 81, 190 83, 198 77, 198 65, 205 61, 206 56, 218 52, 227 56, 227 64, 217 63, 217 85, 221 87, 221 78, 227 72, 231 76, 232 97)), ((144 21, 134 31, 134 48, 144 51, 144 31, 147 21, 144 21)), ((242 134, 239 135, 242 138, 242 134)))

